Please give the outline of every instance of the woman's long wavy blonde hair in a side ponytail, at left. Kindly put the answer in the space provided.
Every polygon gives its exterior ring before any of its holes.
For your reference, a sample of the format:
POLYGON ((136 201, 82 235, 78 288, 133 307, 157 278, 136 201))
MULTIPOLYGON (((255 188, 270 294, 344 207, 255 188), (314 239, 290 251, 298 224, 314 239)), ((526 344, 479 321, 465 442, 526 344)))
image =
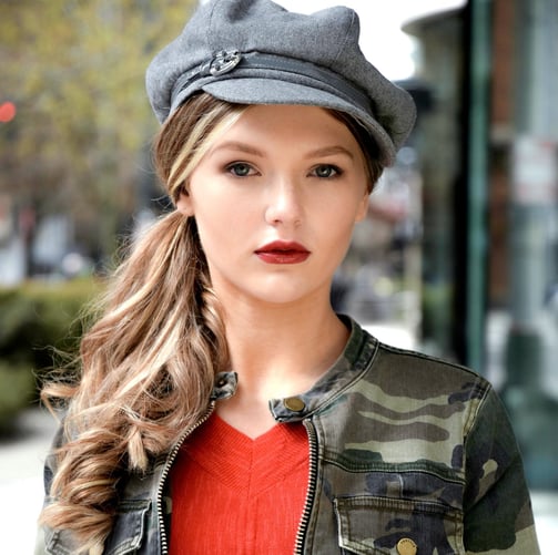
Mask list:
MULTIPOLYGON (((154 162, 171 198, 244 110, 201 95, 163 125, 154 162)), ((71 402, 40 522, 69 530, 82 552, 102 548, 119 480, 169 451, 206 409, 214 376, 229 364, 195 220, 177 210, 133 245, 102 305, 104 315, 81 341, 79 383, 52 382, 41 393, 47 403, 71 402)))

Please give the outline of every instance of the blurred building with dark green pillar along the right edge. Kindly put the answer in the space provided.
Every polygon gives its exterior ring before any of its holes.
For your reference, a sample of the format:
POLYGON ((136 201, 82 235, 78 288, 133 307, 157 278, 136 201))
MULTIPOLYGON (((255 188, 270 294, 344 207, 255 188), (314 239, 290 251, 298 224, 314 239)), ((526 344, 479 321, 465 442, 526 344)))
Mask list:
POLYGON ((432 99, 423 340, 496 382, 531 486, 558 489, 558 3, 469 0, 405 30, 432 99))

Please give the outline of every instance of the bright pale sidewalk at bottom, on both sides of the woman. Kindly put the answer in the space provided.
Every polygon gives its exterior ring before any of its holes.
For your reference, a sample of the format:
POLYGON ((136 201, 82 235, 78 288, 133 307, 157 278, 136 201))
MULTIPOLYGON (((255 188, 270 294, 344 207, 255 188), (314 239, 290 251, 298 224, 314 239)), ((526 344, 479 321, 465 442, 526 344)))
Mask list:
MULTIPOLYGON (((2 554, 33 553, 35 521, 42 503, 42 463, 54 428, 50 414, 31 409, 19 419, 18 435, 0 442, 2 554)), ((534 492, 532 504, 541 554, 555 555, 558 492, 534 492)))

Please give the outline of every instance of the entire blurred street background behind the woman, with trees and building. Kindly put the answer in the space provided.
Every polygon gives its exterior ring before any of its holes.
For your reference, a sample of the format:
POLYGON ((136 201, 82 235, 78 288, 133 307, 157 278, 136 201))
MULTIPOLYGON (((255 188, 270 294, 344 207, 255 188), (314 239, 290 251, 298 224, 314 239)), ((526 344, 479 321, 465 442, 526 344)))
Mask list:
MULTIPOLYGON (((381 340, 493 381, 544 543, 558 532, 558 2, 278 3, 357 9, 363 50, 418 106, 333 302, 381 340)), ((169 207, 143 75, 195 4, 0 6, 0 491, 37 499, 24 523, 12 504, 0 522, 30 542, 54 426, 37 384, 78 345, 119 247, 169 207)))

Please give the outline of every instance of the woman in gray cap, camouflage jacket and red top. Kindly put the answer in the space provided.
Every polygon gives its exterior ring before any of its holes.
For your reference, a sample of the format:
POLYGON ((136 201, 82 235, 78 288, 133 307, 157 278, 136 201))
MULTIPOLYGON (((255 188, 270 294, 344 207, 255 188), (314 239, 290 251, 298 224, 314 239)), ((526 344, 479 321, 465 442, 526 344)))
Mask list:
POLYGON ((148 71, 175 210, 83 338, 40 553, 536 554, 471 371, 381 345, 334 271, 414 120, 345 8, 213 0, 148 71))

